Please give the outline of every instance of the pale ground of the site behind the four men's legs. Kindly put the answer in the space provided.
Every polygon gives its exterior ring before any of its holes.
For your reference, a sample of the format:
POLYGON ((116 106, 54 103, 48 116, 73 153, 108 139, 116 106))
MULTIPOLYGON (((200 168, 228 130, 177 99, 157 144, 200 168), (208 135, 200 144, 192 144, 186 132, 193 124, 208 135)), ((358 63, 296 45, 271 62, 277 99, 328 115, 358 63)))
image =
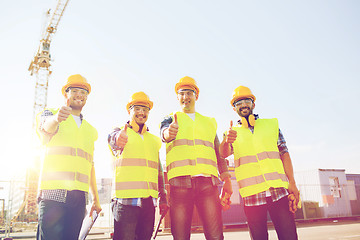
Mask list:
MULTIPOLYGON (((269 239, 277 239, 276 232, 271 223, 269 223, 269 239)), ((112 229, 94 228, 91 230, 86 239, 111 239, 110 232, 112 229)), ((299 239, 305 240, 335 240, 335 239, 349 239, 360 240, 360 217, 351 218, 331 218, 331 219, 312 219, 297 222, 297 232, 299 239)), ((1 240, 5 236, 0 235, 1 240)), ((24 231, 11 233, 12 239, 35 239, 36 232, 24 231)), ((224 230, 225 239, 250 239, 250 235, 246 224, 226 226, 224 230)), ((10 239, 11 239, 10 238, 10 239)), ((172 239, 169 229, 165 229, 158 233, 156 239, 170 240, 172 239)), ((202 229, 193 229, 191 239, 203 240, 205 239, 202 229)))

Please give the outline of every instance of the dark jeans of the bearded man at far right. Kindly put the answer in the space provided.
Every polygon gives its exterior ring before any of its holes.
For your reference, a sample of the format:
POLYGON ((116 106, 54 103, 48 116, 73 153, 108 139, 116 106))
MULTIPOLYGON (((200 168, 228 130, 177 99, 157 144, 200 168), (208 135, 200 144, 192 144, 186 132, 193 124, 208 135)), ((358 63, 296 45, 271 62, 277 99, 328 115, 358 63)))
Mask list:
POLYGON ((294 215, 289 211, 289 200, 283 197, 276 202, 270 198, 266 199, 267 204, 260 206, 245 206, 251 239, 268 239, 267 212, 269 211, 274 224, 278 239, 295 240, 297 238, 294 215))

